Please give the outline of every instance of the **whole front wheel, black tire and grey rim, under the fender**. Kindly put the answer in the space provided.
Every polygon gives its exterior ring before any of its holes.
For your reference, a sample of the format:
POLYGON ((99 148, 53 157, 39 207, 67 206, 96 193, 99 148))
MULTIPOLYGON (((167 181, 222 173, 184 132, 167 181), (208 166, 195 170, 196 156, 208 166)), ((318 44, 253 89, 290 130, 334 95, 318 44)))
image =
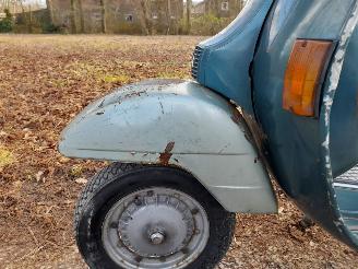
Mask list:
POLYGON ((76 242, 91 268, 214 268, 235 229, 229 213, 190 174, 111 164, 82 192, 76 242))

